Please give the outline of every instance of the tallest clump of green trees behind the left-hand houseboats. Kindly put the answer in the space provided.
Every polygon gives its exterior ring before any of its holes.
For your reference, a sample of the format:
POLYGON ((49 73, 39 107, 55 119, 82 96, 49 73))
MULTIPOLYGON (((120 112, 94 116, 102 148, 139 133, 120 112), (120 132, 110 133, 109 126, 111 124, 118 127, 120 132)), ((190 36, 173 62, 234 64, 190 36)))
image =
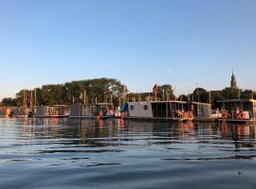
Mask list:
MULTIPOLYGON (((86 102, 113 102, 119 105, 119 96, 126 91, 126 86, 115 78, 95 78, 80 81, 72 81, 64 84, 44 85, 37 88, 37 105, 71 105, 83 103, 84 90, 86 102)), ((31 91, 20 91, 17 96, 17 105, 22 106, 25 102, 29 106, 31 99, 34 103, 34 93, 31 91), (24 97, 25 96, 25 97, 24 97), (26 99, 25 99, 26 98, 26 99), (25 99, 25 101, 24 101, 25 99)))

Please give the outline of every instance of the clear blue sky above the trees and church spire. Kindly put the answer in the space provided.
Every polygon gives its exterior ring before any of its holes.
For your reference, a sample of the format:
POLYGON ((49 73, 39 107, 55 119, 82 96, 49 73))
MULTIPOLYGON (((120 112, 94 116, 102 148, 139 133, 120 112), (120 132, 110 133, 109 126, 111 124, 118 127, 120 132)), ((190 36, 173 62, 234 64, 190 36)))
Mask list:
POLYGON ((130 91, 255 87, 255 0, 0 0, 0 99, 116 77, 130 91))

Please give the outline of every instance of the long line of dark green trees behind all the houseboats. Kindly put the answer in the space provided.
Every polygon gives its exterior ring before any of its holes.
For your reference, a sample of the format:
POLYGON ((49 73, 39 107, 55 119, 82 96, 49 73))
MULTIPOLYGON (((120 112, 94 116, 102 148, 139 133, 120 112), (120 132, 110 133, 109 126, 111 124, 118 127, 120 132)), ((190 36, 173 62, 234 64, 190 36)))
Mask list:
POLYGON ((150 93, 128 93, 127 87, 115 78, 95 78, 66 82, 64 84, 48 84, 34 90, 21 90, 14 98, 4 98, 0 106, 33 107, 35 105, 72 105, 81 103, 108 102, 116 107, 122 102, 138 100, 181 100, 211 103, 217 107, 222 99, 251 99, 256 93, 251 90, 225 88, 222 91, 208 92, 204 88, 196 88, 192 94, 174 95, 172 85, 156 85, 150 93), (150 98, 149 98, 150 97, 150 98))

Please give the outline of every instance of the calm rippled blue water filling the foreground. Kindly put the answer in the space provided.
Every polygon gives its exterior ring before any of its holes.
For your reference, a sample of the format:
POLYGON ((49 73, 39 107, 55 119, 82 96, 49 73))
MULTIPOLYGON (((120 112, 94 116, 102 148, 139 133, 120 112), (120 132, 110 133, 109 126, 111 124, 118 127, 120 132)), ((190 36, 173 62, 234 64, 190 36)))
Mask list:
POLYGON ((0 188, 256 188, 256 126, 0 119, 0 188))

